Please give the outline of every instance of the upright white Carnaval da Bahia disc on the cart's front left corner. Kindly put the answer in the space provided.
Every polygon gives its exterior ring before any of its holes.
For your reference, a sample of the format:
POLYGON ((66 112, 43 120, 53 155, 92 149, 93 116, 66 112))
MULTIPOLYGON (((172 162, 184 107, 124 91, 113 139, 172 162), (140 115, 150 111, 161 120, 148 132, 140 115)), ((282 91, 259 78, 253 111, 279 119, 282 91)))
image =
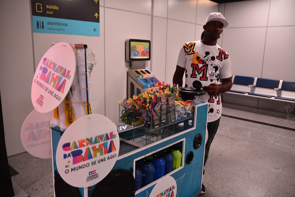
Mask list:
POLYGON ((114 167, 119 154, 115 124, 103 115, 89 114, 73 122, 63 133, 56 150, 56 166, 66 183, 89 187, 114 167))

